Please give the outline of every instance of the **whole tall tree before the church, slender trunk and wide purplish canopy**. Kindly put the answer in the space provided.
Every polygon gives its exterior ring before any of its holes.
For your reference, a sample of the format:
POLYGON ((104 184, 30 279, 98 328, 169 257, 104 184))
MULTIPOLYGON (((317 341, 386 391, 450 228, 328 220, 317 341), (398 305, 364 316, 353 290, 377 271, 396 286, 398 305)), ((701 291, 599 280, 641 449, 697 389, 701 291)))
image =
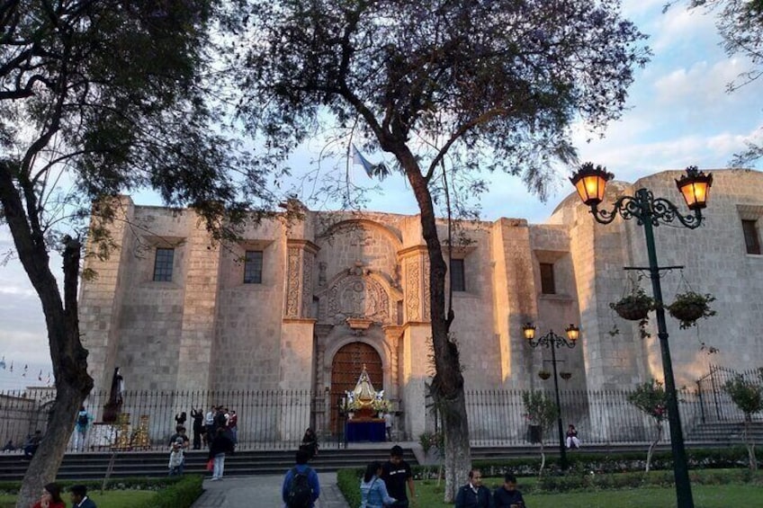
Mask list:
POLYGON ((267 140, 266 162, 330 126, 347 153, 355 137, 390 154, 416 198, 452 501, 471 458, 435 200, 447 204, 453 177, 480 170, 521 174, 543 195, 552 163, 574 160, 570 123, 598 129, 623 111, 648 57, 643 36, 616 0, 240 0, 242 10, 231 29, 245 37, 239 111, 267 140))

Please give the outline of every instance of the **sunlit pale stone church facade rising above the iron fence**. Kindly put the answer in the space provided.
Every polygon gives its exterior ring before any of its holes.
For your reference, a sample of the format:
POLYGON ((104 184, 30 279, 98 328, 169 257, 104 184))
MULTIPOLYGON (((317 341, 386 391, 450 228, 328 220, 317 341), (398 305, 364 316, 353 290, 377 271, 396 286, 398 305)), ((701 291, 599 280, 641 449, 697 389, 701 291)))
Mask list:
MULTIPOLYGON (((683 205, 678 174, 611 183, 606 202, 647 187, 683 205)), ((666 301, 687 285, 716 297, 717 315, 698 328, 669 319, 679 386, 710 361, 763 366, 763 174, 713 174, 702 227, 655 230, 660 264, 685 266, 664 276, 666 301), (720 352, 711 357, 702 343, 720 352)), ((238 244, 215 245, 191 209, 122 204, 111 226, 119 249, 87 259, 97 277, 83 281, 80 295, 96 387, 107 389, 119 367, 130 389, 310 389, 335 405, 366 365, 408 436, 430 425, 428 262, 418 216, 306 210, 302 220, 268 219, 247 227, 238 244)), ((446 238, 446 224, 439 227, 446 238)), ((525 344, 526 322, 539 334, 579 325, 578 346, 558 352, 574 373, 565 388, 661 379, 653 325, 642 339, 608 305, 637 273, 624 267, 648 265, 635 221, 599 225, 570 195, 545 224, 464 222, 456 237, 448 284, 468 390, 542 388, 536 373, 551 353, 525 344), (618 334, 610 334, 613 323, 618 334)), ((648 280, 642 287, 651 292, 648 280)))

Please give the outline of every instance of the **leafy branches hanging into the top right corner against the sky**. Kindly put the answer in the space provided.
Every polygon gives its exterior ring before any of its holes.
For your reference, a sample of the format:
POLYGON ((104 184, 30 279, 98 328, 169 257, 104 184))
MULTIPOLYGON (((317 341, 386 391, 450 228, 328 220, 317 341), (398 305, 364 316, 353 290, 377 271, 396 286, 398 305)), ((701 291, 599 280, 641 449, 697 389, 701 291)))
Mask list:
MULTIPOLYGON (((677 3, 678 0, 669 2, 664 10, 677 3)), ((716 26, 726 54, 750 58, 750 68, 727 85, 729 93, 763 76, 763 3, 760 0, 687 0, 687 6, 716 13, 716 26)), ((750 165, 762 156, 763 146, 748 142, 747 149, 736 154, 731 164, 750 165)))

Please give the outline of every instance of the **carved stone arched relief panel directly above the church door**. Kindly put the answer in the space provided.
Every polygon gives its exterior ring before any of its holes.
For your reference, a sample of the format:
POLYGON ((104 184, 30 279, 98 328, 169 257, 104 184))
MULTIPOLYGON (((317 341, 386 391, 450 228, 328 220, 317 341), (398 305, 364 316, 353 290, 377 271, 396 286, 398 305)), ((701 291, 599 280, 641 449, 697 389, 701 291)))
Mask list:
POLYGON ((337 281, 328 290, 328 319, 339 325, 348 317, 389 323, 390 297, 387 291, 378 281, 364 275, 348 275, 337 281))

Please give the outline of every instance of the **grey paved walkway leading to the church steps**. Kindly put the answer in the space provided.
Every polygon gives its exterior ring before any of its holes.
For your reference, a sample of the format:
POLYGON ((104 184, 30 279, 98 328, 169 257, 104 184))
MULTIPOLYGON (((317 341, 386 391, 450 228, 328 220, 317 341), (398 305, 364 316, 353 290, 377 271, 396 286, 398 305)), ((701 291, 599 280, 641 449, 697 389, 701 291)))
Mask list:
MULTIPOLYGON (((284 473, 285 474, 285 473, 284 473)), ((337 473, 319 473, 320 498, 317 508, 349 508, 337 486, 337 473)), ((279 508, 283 475, 224 477, 219 482, 204 480, 204 494, 193 508, 257 506, 279 508)))

